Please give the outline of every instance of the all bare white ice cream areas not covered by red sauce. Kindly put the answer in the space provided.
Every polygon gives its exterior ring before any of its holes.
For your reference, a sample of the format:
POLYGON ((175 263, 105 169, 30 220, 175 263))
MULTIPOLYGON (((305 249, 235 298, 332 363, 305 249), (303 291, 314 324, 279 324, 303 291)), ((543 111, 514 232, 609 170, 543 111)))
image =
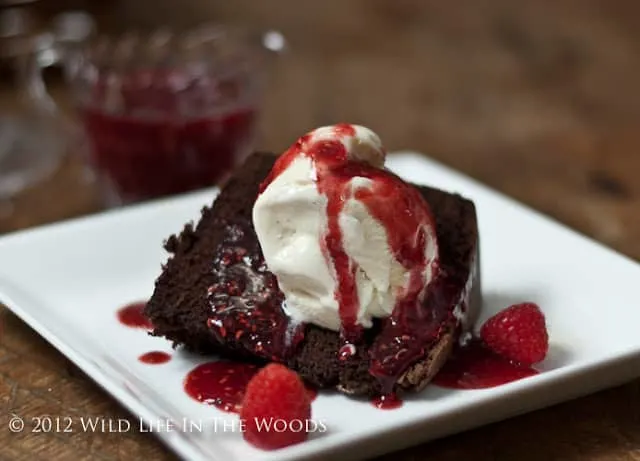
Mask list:
MULTIPOLYGON (((385 152, 378 136, 365 127, 353 128, 354 135, 343 136, 337 136, 334 127, 318 128, 310 142, 339 139, 349 160, 382 168, 385 152)), ((302 152, 260 194, 253 222, 267 267, 285 295, 287 314, 296 321, 339 331, 336 274, 321 244, 327 231, 327 197, 318 191, 316 178, 313 160, 302 152)), ((392 254, 387 230, 355 198, 358 189, 372 185, 371 179, 351 178, 352 193, 338 218, 343 247, 357 266, 357 323, 365 328, 371 327, 374 317, 391 315, 408 283, 408 270, 392 254)), ((433 248, 432 242, 426 242, 425 252, 433 248)), ((428 255, 429 261, 432 258, 428 255)))

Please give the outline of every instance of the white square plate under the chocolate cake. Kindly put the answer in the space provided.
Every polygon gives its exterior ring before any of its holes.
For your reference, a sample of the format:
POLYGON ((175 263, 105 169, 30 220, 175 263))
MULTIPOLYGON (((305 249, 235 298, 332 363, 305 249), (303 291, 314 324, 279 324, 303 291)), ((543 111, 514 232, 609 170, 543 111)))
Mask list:
POLYGON ((484 390, 430 386, 390 411, 321 393, 313 417, 327 432, 276 452, 250 447, 237 430, 221 429, 223 418, 236 416, 183 391, 186 373, 205 359, 178 352, 165 365, 142 364, 140 354, 171 351, 170 345, 123 328, 115 315, 118 307, 151 295, 166 259, 163 240, 199 216, 212 190, 0 238, 0 300, 144 421, 204 421, 202 432, 155 433, 185 459, 364 458, 640 375, 638 264, 421 155, 395 154, 388 165, 409 181, 475 201, 480 320, 512 302, 539 303, 551 338, 543 373, 484 390), (206 423, 214 420, 217 431, 206 423))

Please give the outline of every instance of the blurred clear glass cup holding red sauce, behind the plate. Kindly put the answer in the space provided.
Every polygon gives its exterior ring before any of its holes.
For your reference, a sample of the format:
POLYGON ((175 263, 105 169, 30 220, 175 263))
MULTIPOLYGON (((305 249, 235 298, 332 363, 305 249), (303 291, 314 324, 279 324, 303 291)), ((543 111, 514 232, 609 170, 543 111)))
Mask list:
POLYGON ((265 56, 221 27, 101 39, 72 53, 68 79, 106 204, 223 181, 253 147, 265 56))

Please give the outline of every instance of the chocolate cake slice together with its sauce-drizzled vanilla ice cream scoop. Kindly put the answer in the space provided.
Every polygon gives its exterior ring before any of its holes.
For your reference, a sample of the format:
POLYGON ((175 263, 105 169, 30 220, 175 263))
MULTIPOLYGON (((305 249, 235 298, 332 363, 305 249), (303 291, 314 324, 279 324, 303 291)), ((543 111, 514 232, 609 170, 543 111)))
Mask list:
POLYGON ((167 240, 153 334, 347 394, 424 388, 480 308, 475 207, 405 183, 384 157, 353 125, 251 156, 167 240))

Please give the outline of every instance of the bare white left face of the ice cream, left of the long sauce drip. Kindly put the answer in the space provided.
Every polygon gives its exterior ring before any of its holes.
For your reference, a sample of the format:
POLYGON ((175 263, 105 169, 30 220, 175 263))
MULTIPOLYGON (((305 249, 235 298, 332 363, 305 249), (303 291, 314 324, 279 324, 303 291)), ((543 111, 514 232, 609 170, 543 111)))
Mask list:
POLYGON ((337 330, 335 277, 320 247, 327 198, 314 178, 312 160, 297 157, 256 200, 253 225, 290 317, 337 330))

